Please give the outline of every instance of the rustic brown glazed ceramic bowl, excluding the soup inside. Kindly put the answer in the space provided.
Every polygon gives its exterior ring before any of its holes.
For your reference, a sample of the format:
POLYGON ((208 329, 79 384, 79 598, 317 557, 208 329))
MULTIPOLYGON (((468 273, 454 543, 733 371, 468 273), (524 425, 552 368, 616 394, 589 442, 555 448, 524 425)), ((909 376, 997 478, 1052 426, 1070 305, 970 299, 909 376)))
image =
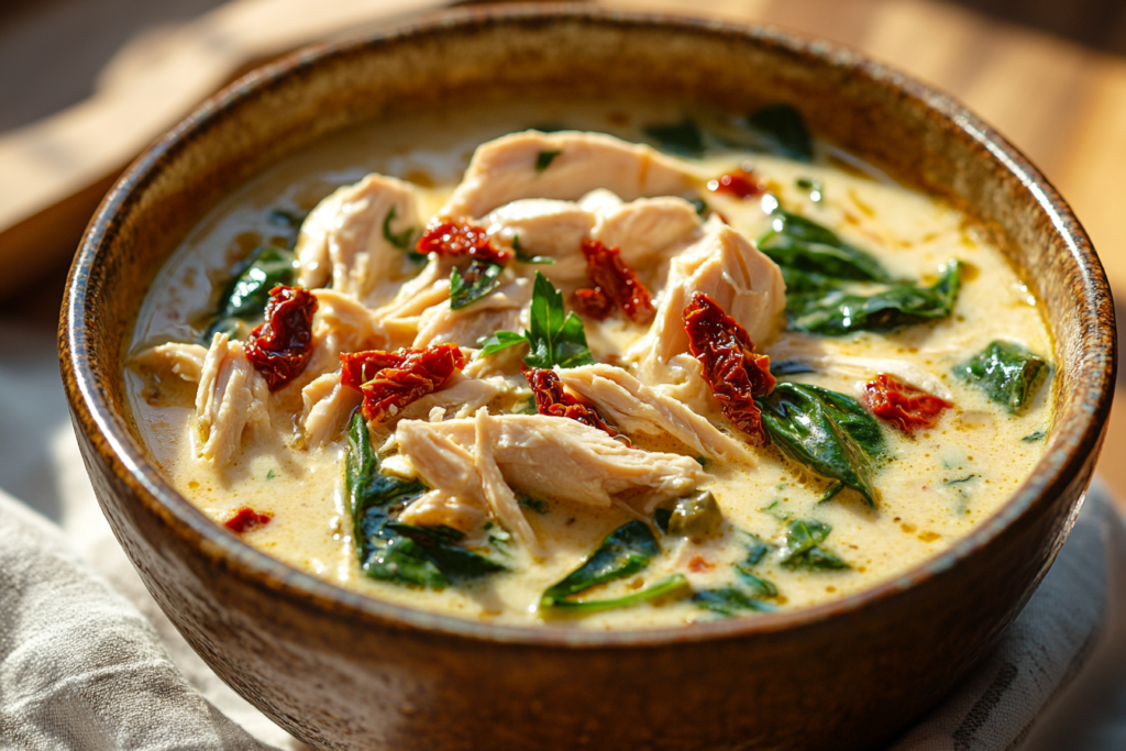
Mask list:
POLYGON ((235 690, 316 749, 848 749, 966 674, 1066 537, 1110 410, 1110 293, 1071 209, 945 95, 777 30, 595 9, 449 12, 314 47, 206 102, 106 197, 71 270, 60 360, 98 499, 150 591, 235 690), (1046 302, 1056 412, 1012 499, 904 575, 838 602, 691 628, 586 633, 396 607, 274 561, 148 458, 123 355, 153 276, 223 196, 314 140, 482 92, 623 93, 733 113, 795 102, 821 137, 948 197, 1046 302))

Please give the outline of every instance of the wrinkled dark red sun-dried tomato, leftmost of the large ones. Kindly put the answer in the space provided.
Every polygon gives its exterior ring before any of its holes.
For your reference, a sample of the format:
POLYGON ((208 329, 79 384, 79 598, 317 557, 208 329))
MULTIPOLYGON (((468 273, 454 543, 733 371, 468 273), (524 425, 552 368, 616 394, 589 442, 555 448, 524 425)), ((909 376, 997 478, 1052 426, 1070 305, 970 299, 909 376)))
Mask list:
POLYGON ((266 322, 247 338, 247 359, 277 391, 301 375, 313 355, 316 297, 301 287, 278 285, 266 303, 266 322))

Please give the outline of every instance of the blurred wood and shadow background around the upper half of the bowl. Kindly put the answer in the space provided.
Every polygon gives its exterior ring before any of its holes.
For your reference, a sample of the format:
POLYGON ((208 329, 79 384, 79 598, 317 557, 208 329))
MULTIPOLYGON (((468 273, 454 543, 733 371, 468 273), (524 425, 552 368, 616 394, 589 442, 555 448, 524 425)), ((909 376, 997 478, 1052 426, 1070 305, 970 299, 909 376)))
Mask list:
MULTIPOLYGON (((598 3, 788 27, 858 47, 949 91, 1024 150, 1071 202, 1107 267, 1119 321, 1126 320, 1126 3, 598 3)), ((0 455, 10 459, 0 471, 0 488, 17 498, 59 493, 60 480, 45 472, 46 450, 34 436, 51 435, 45 422, 65 422, 65 404, 57 379, 39 374, 54 359, 70 258, 115 176, 208 93, 253 65, 309 42, 447 5, 0 0, 0 388, 23 388, 46 400, 29 403, 54 404, 47 413, 36 406, 34 413, 0 414, 0 423, 17 428, 0 431, 0 455)), ((1121 370, 1100 463, 1120 502, 1126 499, 1121 370)))

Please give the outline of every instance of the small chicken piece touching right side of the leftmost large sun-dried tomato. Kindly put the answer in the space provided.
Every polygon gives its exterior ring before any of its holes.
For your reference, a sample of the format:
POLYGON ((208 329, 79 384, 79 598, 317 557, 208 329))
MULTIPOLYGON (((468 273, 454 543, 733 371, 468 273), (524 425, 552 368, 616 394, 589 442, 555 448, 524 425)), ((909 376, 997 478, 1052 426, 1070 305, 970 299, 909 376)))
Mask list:
POLYGON ((314 289, 313 359, 306 370, 328 373, 340 367, 341 352, 384 349, 387 336, 375 311, 336 289, 314 289))

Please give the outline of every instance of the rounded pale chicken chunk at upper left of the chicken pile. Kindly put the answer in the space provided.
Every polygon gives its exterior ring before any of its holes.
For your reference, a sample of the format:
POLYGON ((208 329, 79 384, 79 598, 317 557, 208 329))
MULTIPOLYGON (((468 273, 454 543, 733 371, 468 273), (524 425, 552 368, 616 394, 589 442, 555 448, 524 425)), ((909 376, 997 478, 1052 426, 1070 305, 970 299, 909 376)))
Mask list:
POLYGON ((414 187, 368 175, 322 200, 297 236, 297 277, 303 287, 332 288, 369 305, 386 302, 415 268, 406 257, 421 226, 414 187), (396 238, 400 245, 392 240, 396 238))

